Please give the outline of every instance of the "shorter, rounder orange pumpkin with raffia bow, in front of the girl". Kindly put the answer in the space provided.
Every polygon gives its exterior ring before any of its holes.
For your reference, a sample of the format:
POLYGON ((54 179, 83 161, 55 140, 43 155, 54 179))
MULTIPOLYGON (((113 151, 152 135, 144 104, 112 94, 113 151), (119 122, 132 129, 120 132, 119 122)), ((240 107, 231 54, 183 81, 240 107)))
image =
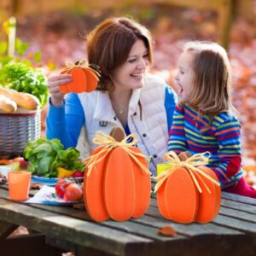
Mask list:
POLYGON ((157 204, 163 217, 178 223, 207 223, 218 215, 221 190, 218 177, 210 168, 206 154, 180 160, 168 152, 160 164, 155 185, 157 204), (166 170, 163 171, 166 165, 166 170))

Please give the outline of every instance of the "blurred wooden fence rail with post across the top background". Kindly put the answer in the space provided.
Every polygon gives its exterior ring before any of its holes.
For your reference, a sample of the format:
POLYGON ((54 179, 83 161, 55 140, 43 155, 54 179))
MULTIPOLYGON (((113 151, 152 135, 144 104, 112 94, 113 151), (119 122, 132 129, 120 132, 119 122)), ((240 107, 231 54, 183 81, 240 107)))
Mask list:
POLYGON ((229 46, 230 27, 234 17, 254 19, 253 0, 1 0, 3 19, 10 15, 36 14, 56 9, 121 9, 125 6, 150 6, 150 4, 170 4, 184 8, 207 9, 218 13, 218 43, 226 49, 229 46))

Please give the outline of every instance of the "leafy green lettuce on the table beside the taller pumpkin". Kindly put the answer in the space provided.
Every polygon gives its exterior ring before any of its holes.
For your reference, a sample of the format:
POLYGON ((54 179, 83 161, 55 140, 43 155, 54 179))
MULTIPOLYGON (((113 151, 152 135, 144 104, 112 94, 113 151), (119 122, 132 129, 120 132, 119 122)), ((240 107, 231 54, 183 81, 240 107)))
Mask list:
POLYGON ((79 150, 63 149, 59 139, 39 138, 29 142, 24 149, 24 157, 29 160, 28 170, 44 177, 57 177, 57 167, 70 171, 83 171, 84 163, 79 160, 79 150))

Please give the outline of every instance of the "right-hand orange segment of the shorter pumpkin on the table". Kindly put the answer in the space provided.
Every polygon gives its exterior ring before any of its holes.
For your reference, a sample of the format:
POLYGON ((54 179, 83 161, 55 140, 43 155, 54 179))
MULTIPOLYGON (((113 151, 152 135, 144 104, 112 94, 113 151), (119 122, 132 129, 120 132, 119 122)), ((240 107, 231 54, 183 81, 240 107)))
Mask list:
MULTIPOLYGON (((200 169, 208 176, 218 181, 218 177, 210 168, 207 168, 206 166, 201 166, 200 169)), ((221 200, 221 189, 215 183, 212 183, 210 180, 208 180, 206 177, 203 177, 201 174, 199 175, 201 176, 202 180, 207 184, 207 187, 211 190, 212 193, 209 194, 207 192, 207 189, 201 182, 200 178, 197 178, 198 183, 201 186, 202 193, 199 193, 199 206, 196 221, 199 223, 207 223, 212 221, 218 215, 221 200)))

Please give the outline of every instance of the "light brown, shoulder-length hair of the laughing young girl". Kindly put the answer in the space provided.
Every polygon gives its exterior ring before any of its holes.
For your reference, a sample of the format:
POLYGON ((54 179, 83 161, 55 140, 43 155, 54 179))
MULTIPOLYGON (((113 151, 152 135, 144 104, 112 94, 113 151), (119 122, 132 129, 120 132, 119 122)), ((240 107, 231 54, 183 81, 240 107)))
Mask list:
POLYGON ((185 51, 194 55, 191 63, 194 72, 190 106, 200 109, 210 119, 221 112, 236 113, 231 100, 231 67, 225 49, 212 42, 189 42, 185 51))

